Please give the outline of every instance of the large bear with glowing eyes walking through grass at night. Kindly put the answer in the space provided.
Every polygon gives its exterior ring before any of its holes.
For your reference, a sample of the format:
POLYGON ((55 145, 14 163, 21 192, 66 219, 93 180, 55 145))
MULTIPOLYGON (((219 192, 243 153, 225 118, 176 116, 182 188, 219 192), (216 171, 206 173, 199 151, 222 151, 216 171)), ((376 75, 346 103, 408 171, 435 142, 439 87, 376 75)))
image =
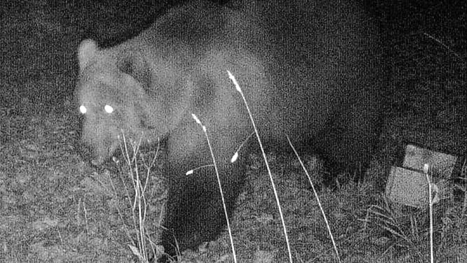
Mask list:
POLYGON ((76 97, 81 142, 92 164, 106 162, 119 135, 167 148, 168 196, 161 243, 175 255, 225 227, 221 195, 202 129, 207 127, 228 215, 245 180, 246 155, 260 138, 318 152, 332 167, 368 164, 382 114, 375 29, 347 1, 182 3, 134 38, 110 48, 78 48, 76 97), (193 174, 186 175, 197 167, 193 174))

